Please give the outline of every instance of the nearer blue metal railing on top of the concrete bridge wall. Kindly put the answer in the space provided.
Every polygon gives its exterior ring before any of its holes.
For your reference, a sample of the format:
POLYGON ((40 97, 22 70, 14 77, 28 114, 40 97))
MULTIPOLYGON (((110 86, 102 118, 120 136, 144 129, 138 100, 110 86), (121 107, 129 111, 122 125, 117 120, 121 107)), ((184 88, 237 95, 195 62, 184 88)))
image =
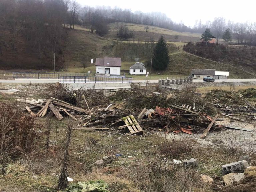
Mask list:
POLYGON ((101 76, 60 76, 61 83, 132 83, 132 77, 101 77, 101 76))

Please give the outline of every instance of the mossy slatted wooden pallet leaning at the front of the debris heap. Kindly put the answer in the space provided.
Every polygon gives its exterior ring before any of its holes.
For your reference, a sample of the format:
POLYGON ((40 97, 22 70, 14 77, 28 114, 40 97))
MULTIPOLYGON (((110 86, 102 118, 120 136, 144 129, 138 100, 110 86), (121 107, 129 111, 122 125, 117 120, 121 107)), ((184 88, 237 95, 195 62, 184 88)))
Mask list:
POLYGON ((144 137, 146 137, 145 132, 140 127, 139 123, 136 121, 133 115, 123 118, 123 121, 127 125, 127 128, 129 129, 131 135, 136 133, 136 134, 142 134, 144 137))

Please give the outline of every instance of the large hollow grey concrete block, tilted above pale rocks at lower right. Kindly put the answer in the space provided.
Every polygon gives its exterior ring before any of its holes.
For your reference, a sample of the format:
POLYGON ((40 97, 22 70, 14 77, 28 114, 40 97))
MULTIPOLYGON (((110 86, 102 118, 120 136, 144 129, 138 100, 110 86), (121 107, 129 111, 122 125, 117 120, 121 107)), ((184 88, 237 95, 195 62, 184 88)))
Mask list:
POLYGON ((249 164, 246 160, 238 161, 235 163, 230 163, 222 165, 222 175, 227 175, 229 173, 243 173, 249 164))

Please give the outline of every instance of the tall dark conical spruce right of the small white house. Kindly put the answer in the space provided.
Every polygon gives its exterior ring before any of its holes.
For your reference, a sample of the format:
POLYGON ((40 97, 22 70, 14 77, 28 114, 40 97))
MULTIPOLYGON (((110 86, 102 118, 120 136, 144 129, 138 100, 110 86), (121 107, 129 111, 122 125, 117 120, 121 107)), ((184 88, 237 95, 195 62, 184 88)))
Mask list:
POLYGON ((152 67, 155 70, 164 70, 167 68, 169 62, 170 58, 167 44, 163 35, 161 35, 154 48, 152 67))

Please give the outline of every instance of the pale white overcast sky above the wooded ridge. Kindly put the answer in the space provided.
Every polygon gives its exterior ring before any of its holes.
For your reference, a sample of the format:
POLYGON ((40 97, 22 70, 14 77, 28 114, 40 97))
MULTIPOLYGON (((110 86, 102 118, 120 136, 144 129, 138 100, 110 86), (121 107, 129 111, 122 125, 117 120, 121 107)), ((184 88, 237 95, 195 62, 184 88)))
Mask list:
POLYGON ((77 0, 80 5, 118 6, 122 9, 142 12, 163 12, 174 22, 183 21, 193 27, 195 20, 212 21, 214 17, 224 17, 234 22, 256 22, 255 0, 77 0))

